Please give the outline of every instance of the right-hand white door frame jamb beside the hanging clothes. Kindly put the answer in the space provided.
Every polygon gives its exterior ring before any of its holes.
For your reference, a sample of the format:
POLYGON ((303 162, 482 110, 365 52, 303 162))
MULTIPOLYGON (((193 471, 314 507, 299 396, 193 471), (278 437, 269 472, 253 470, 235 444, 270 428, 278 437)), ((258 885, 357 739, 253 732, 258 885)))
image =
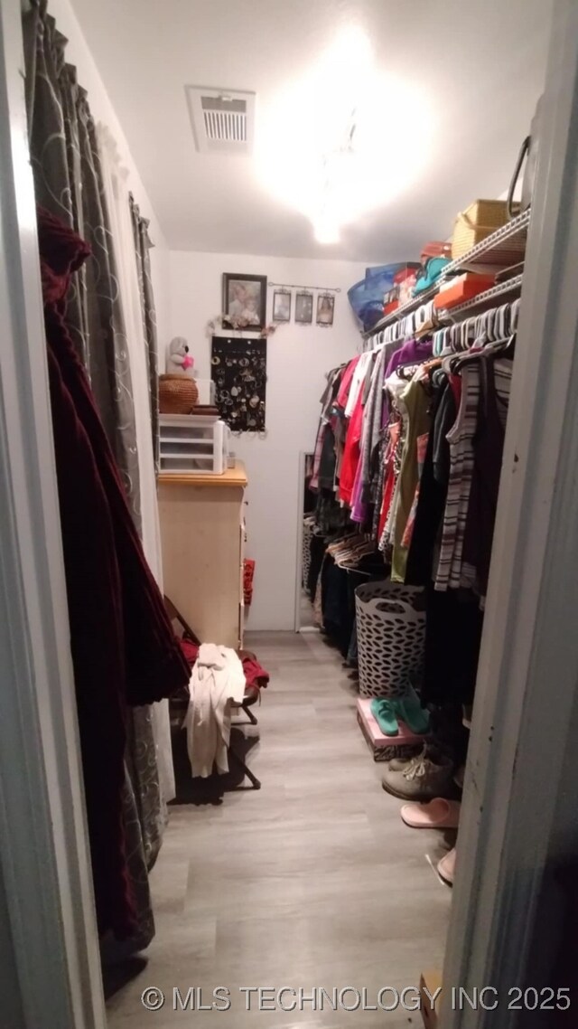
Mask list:
MULTIPOLYGON (((578 5, 556 0, 443 982, 511 1026, 549 867, 578 829, 578 5), (493 997, 489 997, 489 1004, 493 997)), ((543 933, 542 947, 552 945, 543 933)), ((528 985, 528 984, 526 984, 528 985)), ((552 983, 552 986, 554 984, 552 983)), ((558 984, 562 985, 562 984, 558 984)), ((572 984, 568 984, 570 987, 572 984)), ((447 992, 446 992, 447 996, 447 992)), ((445 1002, 450 1008, 451 1001, 445 1002)), ((523 1024, 523 1020, 522 1020, 523 1024)))

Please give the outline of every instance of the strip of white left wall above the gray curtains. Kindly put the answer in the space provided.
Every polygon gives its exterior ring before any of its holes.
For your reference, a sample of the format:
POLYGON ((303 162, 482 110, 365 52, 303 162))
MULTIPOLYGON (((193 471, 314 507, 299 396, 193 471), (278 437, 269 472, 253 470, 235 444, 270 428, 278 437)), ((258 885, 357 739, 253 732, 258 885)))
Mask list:
POLYGON ((156 306, 156 324, 158 326, 158 346, 162 353, 169 341, 169 248, 160 230, 152 204, 147 196, 141 176, 133 161, 127 137, 110 97, 106 92, 99 69, 88 48, 76 14, 70 0, 50 0, 49 13, 56 19, 57 27, 68 39, 66 60, 76 66, 78 81, 88 94, 88 103, 93 117, 98 123, 102 121, 112 133, 123 167, 129 172, 128 185, 132 190, 141 214, 150 220, 150 238, 154 244, 150 252, 152 284, 156 306))

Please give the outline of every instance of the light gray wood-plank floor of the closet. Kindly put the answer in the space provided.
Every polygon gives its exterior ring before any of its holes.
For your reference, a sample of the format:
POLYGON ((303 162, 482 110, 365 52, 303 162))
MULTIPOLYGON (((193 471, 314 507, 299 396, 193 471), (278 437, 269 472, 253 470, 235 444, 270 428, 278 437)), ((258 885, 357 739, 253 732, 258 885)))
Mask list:
POLYGON ((242 986, 366 988, 369 1004, 381 987, 417 986, 441 965, 451 896, 426 860, 446 844, 405 827, 381 788, 335 651, 313 633, 254 633, 247 645, 272 675, 249 755, 262 788, 172 809, 152 873, 156 936, 144 970, 110 998, 109 1029, 421 1029, 420 1013, 402 1009, 267 1013, 255 995, 245 1009, 242 986), (161 1010, 143 1009, 149 986, 164 991, 161 1010), (173 988, 184 997, 189 986, 204 1004, 228 987, 230 1010, 175 1012, 173 988))

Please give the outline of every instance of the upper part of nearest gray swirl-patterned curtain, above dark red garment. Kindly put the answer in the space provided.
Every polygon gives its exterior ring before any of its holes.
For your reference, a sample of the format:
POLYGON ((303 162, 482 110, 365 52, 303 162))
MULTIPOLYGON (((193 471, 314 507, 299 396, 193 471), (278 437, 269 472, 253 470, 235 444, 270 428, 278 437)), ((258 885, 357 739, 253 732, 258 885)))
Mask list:
POLYGON ((65 62, 67 40, 46 13, 46 0, 33 0, 25 29, 32 62, 27 67, 27 107, 36 199, 93 251, 76 277, 67 321, 139 527, 133 386, 95 122, 76 69, 65 62))

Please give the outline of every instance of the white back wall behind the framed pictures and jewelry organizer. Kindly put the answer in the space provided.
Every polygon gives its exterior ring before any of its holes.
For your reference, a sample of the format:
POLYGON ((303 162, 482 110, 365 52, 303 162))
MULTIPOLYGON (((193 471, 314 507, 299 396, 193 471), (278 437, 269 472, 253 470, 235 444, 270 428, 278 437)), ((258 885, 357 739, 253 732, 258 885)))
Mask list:
MULTIPOLYGON (((221 312, 223 272, 266 275, 269 281, 340 288, 332 328, 281 325, 267 340, 266 436, 231 437, 231 449, 249 475, 247 556, 256 560, 249 629, 291 630, 294 625, 298 462, 313 451, 325 374, 352 357, 359 345, 347 290, 365 265, 172 251, 172 335, 184 335, 202 378, 210 378, 207 323, 221 312)), ((267 321, 273 289, 269 288, 267 321)), ((293 291, 294 292, 294 291, 293 291)), ((293 306, 294 306, 293 296, 293 306)), ((292 316, 293 316, 292 311, 292 316)))

